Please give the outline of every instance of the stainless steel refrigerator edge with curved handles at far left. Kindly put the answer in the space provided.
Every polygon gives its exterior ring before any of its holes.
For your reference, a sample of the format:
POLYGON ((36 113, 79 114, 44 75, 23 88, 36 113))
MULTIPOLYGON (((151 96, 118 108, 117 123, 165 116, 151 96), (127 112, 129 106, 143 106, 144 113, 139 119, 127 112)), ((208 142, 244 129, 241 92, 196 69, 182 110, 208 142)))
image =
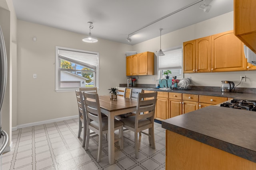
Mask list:
MULTIPOLYGON (((8 143, 8 134, 2 130, 2 104, 4 100, 4 94, 6 89, 6 80, 7 80, 7 58, 6 58, 6 49, 4 44, 4 36, 2 33, 0 25, 0 158, 2 153, 6 149, 8 143)), ((2 164, 2 158, 0 159, 2 164)), ((0 165, 1 165, 0 164, 0 165)), ((0 166, 0 169, 1 166, 0 166)))

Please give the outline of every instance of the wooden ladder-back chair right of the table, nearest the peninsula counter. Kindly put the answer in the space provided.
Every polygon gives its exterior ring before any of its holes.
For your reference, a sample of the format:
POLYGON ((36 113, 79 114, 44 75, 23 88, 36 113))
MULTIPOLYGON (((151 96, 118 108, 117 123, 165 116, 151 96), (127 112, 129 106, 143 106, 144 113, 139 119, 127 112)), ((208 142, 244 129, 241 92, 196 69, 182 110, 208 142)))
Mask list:
POLYGON ((141 132, 148 135, 149 144, 152 148, 155 148, 154 139, 154 115, 156 108, 157 92, 153 93, 139 93, 138 103, 136 108, 136 115, 121 119, 124 123, 124 127, 131 131, 134 131, 134 145, 135 156, 138 159, 138 133, 141 132), (144 100, 147 98, 147 100, 144 100), (140 114, 143 112, 144 114, 140 114), (148 129, 148 133, 143 132, 148 129))

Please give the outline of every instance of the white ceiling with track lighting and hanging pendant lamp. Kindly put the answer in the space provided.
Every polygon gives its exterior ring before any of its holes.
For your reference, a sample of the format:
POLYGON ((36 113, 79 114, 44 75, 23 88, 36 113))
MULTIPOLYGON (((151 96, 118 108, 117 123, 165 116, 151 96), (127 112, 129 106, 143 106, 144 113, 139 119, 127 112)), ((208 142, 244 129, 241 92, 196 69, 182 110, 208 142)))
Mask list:
POLYGON ((86 38, 90 31, 87 22, 91 21, 94 25, 91 30, 93 37, 130 45, 159 37, 160 28, 163 28, 162 35, 164 35, 233 11, 233 0, 205 0, 206 4, 212 6, 208 13, 199 9, 203 2, 203 0, 13 0, 19 20, 81 33, 84 34, 83 38, 86 38), (194 5, 190 6, 191 4, 194 5), (188 8, 179 11, 184 7, 188 8), (173 14, 174 12, 176 13, 173 14), (169 14, 172 15, 157 21, 169 14), (150 23, 152 24, 145 27, 150 23), (126 40, 129 34, 131 42, 126 40))

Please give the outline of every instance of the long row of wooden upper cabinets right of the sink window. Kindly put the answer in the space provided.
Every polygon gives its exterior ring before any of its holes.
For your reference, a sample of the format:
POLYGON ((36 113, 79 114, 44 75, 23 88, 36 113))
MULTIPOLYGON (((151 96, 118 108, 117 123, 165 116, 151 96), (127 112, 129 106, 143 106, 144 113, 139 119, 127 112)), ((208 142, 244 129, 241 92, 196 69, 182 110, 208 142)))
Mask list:
POLYGON ((184 73, 247 70, 243 43, 233 31, 183 43, 184 73))

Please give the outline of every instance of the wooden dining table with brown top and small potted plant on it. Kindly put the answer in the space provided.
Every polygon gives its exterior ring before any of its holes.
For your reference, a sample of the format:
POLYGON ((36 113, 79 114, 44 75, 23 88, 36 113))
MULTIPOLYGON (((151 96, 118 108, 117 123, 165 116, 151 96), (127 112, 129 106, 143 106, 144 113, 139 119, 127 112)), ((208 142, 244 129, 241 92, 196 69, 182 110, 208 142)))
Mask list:
POLYGON ((110 96, 99 96, 100 111, 108 116, 108 162, 114 164, 114 116, 136 111, 137 100, 117 96, 117 100, 110 100, 110 96))

